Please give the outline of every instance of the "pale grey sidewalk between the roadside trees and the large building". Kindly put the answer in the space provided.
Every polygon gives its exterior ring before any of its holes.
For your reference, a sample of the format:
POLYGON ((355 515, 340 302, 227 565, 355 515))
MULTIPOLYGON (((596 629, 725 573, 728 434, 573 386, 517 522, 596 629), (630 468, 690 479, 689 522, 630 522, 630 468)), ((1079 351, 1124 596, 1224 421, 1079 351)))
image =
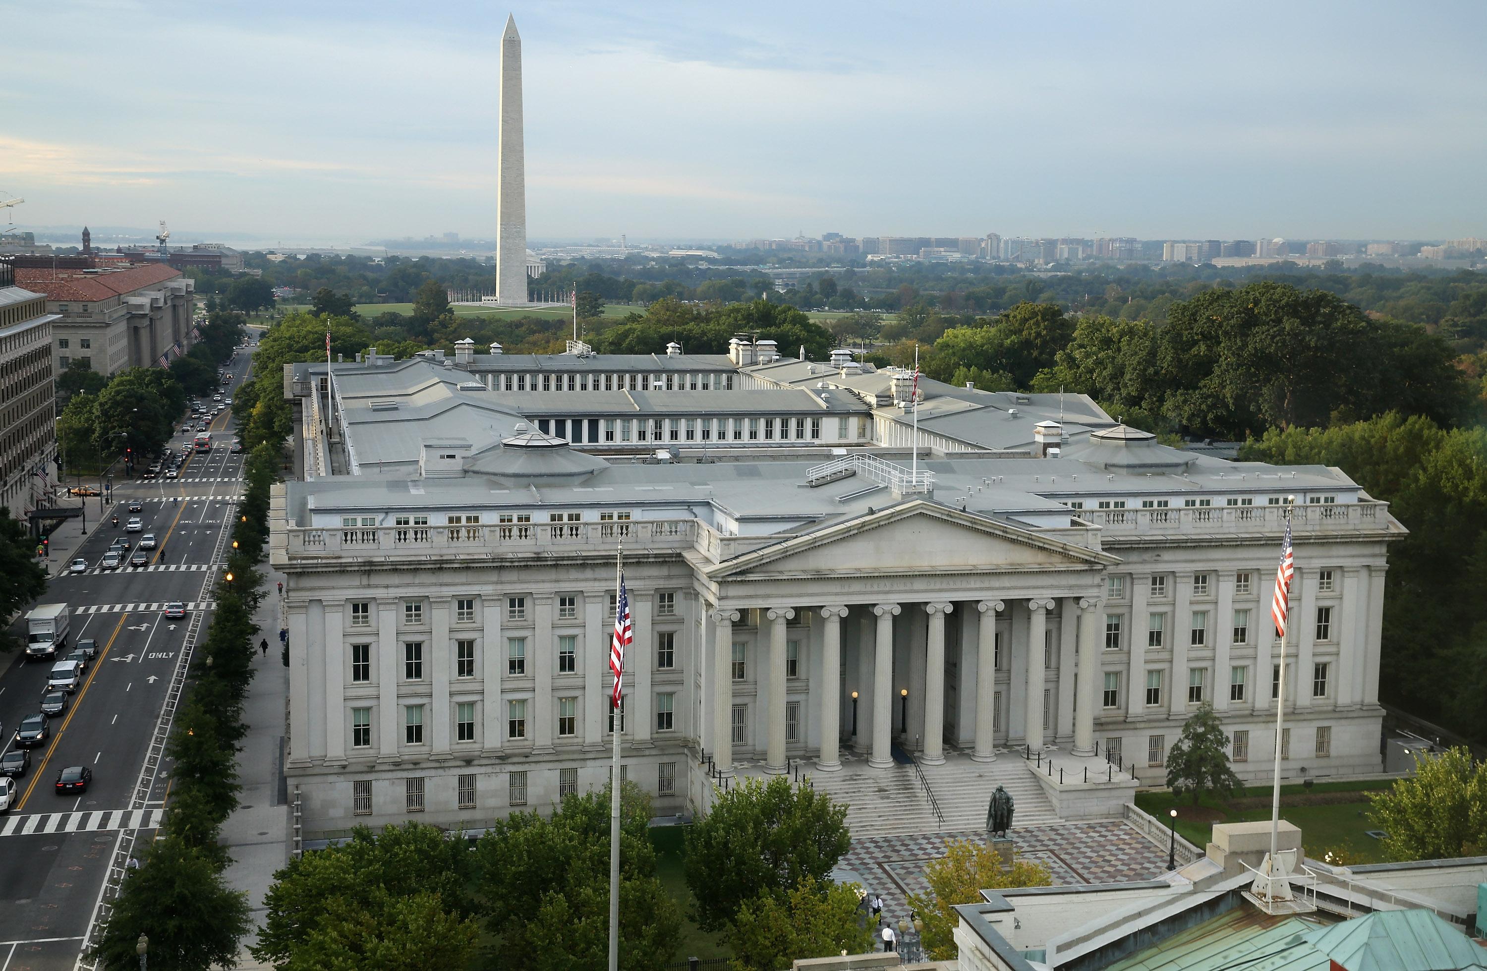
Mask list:
MULTIPOLYGON (((248 687, 242 718, 248 735, 238 754, 238 809, 222 824, 222 843, 232 857, 228 885, 248 894, 254 928, 263 923, 263 895, 274 883, 274 873, 288 864, 288 816, 283 782, 284 700, 288 697, 288 668, 280 660, 280 596, 275 583, 284 575, 263 564, 263 589, 268 592, 253 620, 268 638, 269 654, 257 653, 257 675, 248 687)), ((247 971, 269 968, 248 953, 257 934, 242 940, 238 967, 247 971)))

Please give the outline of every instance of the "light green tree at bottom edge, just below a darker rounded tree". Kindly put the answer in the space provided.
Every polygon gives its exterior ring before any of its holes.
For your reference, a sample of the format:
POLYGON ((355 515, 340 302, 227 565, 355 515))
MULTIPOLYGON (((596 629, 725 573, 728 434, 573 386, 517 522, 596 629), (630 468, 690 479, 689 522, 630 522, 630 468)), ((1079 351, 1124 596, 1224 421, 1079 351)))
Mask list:
POLYGON ((779 971, 797 958, 833 958, 873 950, 873 928, 857 883, 801 880, 779 900, 745 901, 726 940, 739 971, 779 971))

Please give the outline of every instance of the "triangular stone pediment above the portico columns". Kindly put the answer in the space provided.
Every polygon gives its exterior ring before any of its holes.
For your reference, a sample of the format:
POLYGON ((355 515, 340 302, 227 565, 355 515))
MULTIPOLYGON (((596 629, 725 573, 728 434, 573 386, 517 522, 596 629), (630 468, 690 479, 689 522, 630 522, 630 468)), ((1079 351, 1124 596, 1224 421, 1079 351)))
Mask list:
POLYGON ((916 500, 724 561, 727 575, 1090 570, 1118 558, 1010 523, 916 500))

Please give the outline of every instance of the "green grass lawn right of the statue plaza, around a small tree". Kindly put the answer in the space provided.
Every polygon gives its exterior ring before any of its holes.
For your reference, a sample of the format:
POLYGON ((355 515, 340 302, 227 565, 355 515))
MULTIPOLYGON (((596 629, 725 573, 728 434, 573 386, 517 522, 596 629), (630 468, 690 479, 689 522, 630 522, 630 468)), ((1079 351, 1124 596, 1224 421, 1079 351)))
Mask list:
MULTIPOLYGON (((1365 830, 1378 828, 1368 819, 1370 801, 1365 793, 1392 787, 1390 779, 1365 782, 1317 782, 1307 791, 1301 785, 1280 787, 1280 818, 1301 828, 1301 843, 1309 857, 1320 858, 1328 849, 1344 848, 1352 862, 1383 862, 1378 840, 1365 836, 1365 830), (1356 799, 1347 799, 1356 793, 1356 799), (1328 801, 1340 799, 1341 801, 1328 801)), ((1178 833, 1197 848, 1203 848, 1213 836, 1215 822, 1252 822, 1270 818, 1270 787, 1251 787, 1239 799, 1255 800, 1259 804, 1234 807, 1215 799, 1203 797, 1197 807, 1191 800, 1178 806, 1178 833)), ((1138 793, 1136 806, 1157 819, 1166 821, 1175 804, 1172 793, 1138 793)))

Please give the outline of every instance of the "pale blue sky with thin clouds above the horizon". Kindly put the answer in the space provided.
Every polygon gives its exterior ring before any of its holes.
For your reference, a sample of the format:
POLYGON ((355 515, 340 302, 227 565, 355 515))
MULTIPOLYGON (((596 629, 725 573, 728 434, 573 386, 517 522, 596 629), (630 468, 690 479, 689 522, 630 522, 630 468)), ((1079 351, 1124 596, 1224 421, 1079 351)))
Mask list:
POLYGON ((1480 0, 0 0, 9 219, 492 238, 507 13, 529 239, 1487 236, 1480 0))

